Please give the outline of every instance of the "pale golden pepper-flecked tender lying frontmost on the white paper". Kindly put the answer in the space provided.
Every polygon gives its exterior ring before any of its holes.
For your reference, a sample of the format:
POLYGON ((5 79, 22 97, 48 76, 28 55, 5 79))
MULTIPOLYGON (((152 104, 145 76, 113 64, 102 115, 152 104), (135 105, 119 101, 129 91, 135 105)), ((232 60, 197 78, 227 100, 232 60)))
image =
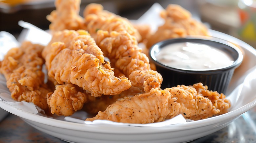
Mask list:
POLYGON ((150 92, 127 97, 99 111, 96 117, 86 120, 106 119, 124 123, 160 122, 171 115, 178 115, 179 104, 172 98, 170 92, 152 88, 150 92), (171 112, 171 113, 170 113, 171 112))

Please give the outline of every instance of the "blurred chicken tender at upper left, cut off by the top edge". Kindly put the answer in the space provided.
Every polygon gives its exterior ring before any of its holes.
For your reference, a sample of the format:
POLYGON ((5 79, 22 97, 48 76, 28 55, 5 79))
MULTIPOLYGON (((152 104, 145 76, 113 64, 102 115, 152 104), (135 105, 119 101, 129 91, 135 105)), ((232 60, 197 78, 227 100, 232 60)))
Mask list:
POLYGON ((81 0, 56 0, 55 7, 47 20, 51 31, 84 29, 84 20, 79 16, 81 0))

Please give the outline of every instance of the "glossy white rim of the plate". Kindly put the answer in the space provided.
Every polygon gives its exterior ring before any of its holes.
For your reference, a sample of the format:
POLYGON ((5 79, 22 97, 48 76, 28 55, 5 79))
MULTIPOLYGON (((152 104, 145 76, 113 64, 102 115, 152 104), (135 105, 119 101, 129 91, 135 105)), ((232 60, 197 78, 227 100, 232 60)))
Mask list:
MULTIPOLYGON (((252 46, 245 43, 244 41, 239 40, 230 35, 227 35, 225 33, 219 32, 219 31, 215 31, 215 30, 211 30, 211 29, 209 29, 209 31, 213 32, 213 33, 217 33, 217 34, 222 34, 226 37, 232 38, 233 40, 236 41, 235 42, 236 44, 239 44, 240 46, 242 46, 242 48, 247 49, 249 52, 251 52, 253 55, 256 56, 256 49, 254 49, 252 46)), ((50 125, 53 127, 64 128, 64 129, 72 129, 72 130, 77 130, 77 131, 95 132, 95 133, 111 133, 111 134, 129 134, 129 132, 133 129, 136 129, 136 130, 133 130, 133 132, 131 132, 132 134, 135 134, 135 133, 136 134, 147 134, 147 133, 156 133, 156 132, 161 133, 161 132, 166 132, 166 131, 176 132, 176 131, 182 131, 182 130, 187 130, 187 129, 193 129, 195 127, 200 128, 203 126, 216 124, 217 122, 224 121, 225 119, 230 119, 230 118, 233 118, 233 120, 237 119, 239 116, 241 116, 242 114, 244 114, 245 112, 247 112, 248 110, 253 108, 255 105, 256 105, 256 97, 251 102, 249 102, 233 111, 229 111, 228 113, 225 113, 223 115, 211 117, 208 119, 187 122, 185 124, 175 124, 175 125, 170 125, 170 126, 166 126, 166 127, 132 127, 132 128, 128 128, 129 130, 117 130, 117 131, 112 130, 110 132, 109 129, 111 129, 111 128, 112 129, 124 129, 124 128, 127 129, 127 126, 113 126, 113 127, 109 128, 109 127, 101 126, 101 125, 87 125, 87 124, 74 123, 74 122, 69 122, 69 121, 64 121, 64 120, 52 119, 49 117, 43 117, 43 116, 40 116, 37 114, 32 114, 27 111, 20 112, 20 110, 13 107, 12 105, 0 100, 1 108, 3 108, 4 110, 6 110, 14 115, 17 115, 21 118, 24 118, 24 119, 27 119, 30 121, 50 125), (5 106, 3 106, 3 105, 5 105, 5 106), (7 107, 11 107, 11 108, 7 109, 7 107), (22 114, 22 113, 26 113, 26 114, 22 114), (29 115, 29 116, 26 116, 26 115, 29 115), (35 117, 35 118, 30 118, 31 116, 35 117), (47 124, 47 123, 49 123, 49 124, 47 124), (62 126, 63 124, 65 126, 62 126), (99 128, 100 128, 100 130, 99 130, 99 128), (105 128, 106 128, 106 130, 105 130, 105 128), (140 130, 140 129, 143 129, 143 130, 140 130), (154 129, 154 130, 144 130, 144 129, 154 129)))

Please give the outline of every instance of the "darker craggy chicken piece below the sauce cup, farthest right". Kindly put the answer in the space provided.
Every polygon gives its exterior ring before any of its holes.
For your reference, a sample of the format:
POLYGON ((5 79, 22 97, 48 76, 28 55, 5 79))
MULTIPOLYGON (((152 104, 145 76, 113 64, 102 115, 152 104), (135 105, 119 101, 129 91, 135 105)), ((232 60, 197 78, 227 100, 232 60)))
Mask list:
POLYGON ((185 118, 192 120, 206 119, 228 112, 230 101, 223 93, 207 90, 202 83, 193 86, 177 86, 166 88, 180 103, 180 112, 185 118))

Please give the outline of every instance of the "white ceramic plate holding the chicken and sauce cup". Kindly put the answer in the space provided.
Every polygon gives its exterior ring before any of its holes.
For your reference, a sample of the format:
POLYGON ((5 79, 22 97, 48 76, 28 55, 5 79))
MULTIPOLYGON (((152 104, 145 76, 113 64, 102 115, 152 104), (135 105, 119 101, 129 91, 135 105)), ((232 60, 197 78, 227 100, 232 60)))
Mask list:
MULTIPOLYGON (((249 58, 246 63, 241 65, 242 68, 235 71, 227 91, 232 94, 232 96, 228 96, 231 100, 232 108, 224 115, 164 127, 135 127, 86 125, 68 122, 64 121, 64 117, 61 116, 49 118, 41 116, 40 114, 32 114, 24 110, 18 110, 1 100, 0 107, 19 116, 34 128, 68 142, 188 142, 212 134, 226 127, 233 120, 256 105, 255 92, 247 90, 247 88, 256 88, 255 84, 243 85, 246 81, 246 75, 250 74, 252 69, 255 70, 256 50, 245 42, 229 35, 214 30, 210 32, 214 37, 229 40, 240 45, 243 47, 245 57, 249 58), (243 86, 243 88, 237 88, 239 86, 243 86)), ((255 79, 253 79, 252 82, 255 82, 255 79)), ((6 88, 4 82, 0 82, 0 84, 0 89, 6 88)), ((75 114, 84 113, 76 112, 75 114)))

